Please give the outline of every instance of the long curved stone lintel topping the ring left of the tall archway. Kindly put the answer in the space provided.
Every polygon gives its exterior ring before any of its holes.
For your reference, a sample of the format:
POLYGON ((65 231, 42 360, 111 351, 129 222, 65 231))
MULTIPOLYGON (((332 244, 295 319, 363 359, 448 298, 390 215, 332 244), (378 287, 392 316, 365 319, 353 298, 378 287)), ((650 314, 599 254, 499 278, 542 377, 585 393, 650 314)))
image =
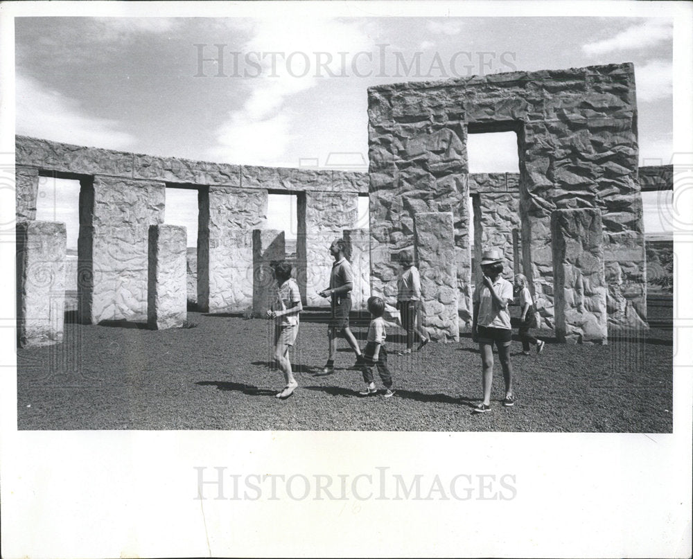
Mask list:
POLYGON ((113 175, 128 179, 236 186, 275 190, 368 191, 363 172, 306 170, 230 165, 179 157, 157 157, 16 136, 16 161, 29 166, 76 175, 113 175))

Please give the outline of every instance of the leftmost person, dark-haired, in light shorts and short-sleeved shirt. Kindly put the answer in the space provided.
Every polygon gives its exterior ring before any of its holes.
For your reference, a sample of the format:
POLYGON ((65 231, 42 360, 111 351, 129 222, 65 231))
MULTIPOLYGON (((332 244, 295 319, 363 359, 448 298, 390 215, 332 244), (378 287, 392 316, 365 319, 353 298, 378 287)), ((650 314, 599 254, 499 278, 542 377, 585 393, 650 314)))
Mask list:
POLYGON ((291 370, 289 348, 294 345, 299 332, 299 312, 303 310, 303 305, 299 286, 291 277, 291 265, 287 262, 274 263, 272 269, 279 283, 279 293, 277 303, 267 311, 267 318, 275 321, 274 360, 279 364, 286 380, 286 387, 277 393, 277 398, 284 400, 291 396, 299 385, 291 370))

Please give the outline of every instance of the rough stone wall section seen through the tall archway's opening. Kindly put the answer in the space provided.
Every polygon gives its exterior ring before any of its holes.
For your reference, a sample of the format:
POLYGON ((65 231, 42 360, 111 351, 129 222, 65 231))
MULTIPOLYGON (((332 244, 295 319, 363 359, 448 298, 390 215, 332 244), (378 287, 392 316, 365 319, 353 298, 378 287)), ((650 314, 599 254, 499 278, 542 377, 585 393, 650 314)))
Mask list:
MULTIPOLYGON (((519 271, 516 254, 520 248, 520 190, 518 175, 511 173, 475 173, 469 175, 469 190, 474 204, 474 260, 481 261, 482 251, 500 249, 505 256, 503 276, 511 278, 519 271)), ((474 269, 475 284, 482 280, 480 267, 474 269)))

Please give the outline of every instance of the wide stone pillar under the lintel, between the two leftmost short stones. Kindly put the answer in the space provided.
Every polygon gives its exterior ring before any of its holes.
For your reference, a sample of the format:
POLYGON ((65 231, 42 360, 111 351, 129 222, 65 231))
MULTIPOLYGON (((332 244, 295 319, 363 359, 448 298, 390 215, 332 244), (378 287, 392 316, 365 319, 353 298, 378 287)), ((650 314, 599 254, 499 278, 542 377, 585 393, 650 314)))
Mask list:
POLYGON ((96 175, 80 191, 82 323, 146 321, 149 227, 164 221, 163 183, 96 175))

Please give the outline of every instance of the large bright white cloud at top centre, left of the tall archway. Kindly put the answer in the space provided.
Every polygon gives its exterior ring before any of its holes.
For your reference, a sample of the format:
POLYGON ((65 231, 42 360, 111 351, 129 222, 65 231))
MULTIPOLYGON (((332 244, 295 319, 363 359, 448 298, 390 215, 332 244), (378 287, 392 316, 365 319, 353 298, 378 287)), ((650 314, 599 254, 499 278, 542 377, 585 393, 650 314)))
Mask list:
MULTIPOLYGON (((261 57, 261 74, 247 78, 252 88, 249 97, 220 125, 218 145, 209 150, 209 155, 234 163, 286 164, 284 154, 292 138, 288 100, 331 75, 338 76, 343 66, 351 64, 354 53, 369 51, 370 46, 362 30, 333 19, 258 21, 243 53, 259 53, 253 55, 253 60, 261 57), (277 54, 262 57, 263 53, 277 54)), ((248 70, 256 72, 250 67, 248 70)))

